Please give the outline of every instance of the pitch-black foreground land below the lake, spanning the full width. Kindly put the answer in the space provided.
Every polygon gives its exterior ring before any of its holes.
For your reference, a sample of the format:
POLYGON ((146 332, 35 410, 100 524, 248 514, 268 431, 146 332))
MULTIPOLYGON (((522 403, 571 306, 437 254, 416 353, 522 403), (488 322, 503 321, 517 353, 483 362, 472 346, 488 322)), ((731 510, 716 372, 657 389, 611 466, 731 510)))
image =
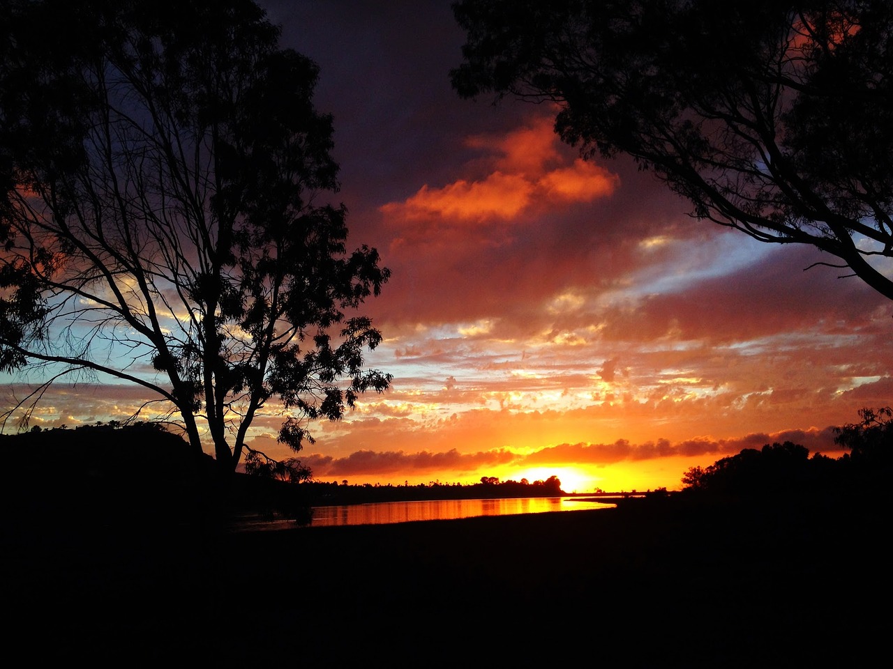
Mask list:
POLYGON ((889 659, 889 505, 615 510, 228 533, 4 534, 24 665, 871 666, 889 659))

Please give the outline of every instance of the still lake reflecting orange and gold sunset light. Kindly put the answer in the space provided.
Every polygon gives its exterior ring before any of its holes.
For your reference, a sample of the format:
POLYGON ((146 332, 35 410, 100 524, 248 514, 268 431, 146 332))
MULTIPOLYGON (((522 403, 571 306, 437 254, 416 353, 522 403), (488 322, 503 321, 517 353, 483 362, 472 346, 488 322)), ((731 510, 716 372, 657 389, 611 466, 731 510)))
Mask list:
MULTIPOLYGON (((499 500, 427 500, 350 504, 335 507, 313 507, 312 527, 334 525, 369 525, 410 523, 416 520, 450 520, 473 516, 513 516, 550 511, 582 511, 613 508, 589 500, 567 497, 534 497, 499 500)), ((243 530, 273 530, 294 526, 288 520, 257 521, 242 524, 243 530)))

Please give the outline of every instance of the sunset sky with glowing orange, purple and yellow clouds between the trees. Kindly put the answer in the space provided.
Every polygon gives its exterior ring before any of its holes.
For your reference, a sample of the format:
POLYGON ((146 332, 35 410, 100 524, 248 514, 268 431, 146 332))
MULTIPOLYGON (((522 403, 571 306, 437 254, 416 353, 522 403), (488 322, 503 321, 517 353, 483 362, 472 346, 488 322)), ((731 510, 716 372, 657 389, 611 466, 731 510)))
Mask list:
MULTIPOLYGON (((555 110, 465 101, 448 2, 261 3, 321 68, 350 246, 393 276, 367 302, 394 376, 302 453, 321 480, 545 479, 679 488, 693 465, 890 403, 893 308, 808 247, 688 216, 630 161, 581 161, 555 110)), ((21 395, 22 389, 16 386, 21 395)), ((59 384, 32 424, 121 419, 121 385, 59 384)), ((275 444, 281 417, 255 422, 275 444)))

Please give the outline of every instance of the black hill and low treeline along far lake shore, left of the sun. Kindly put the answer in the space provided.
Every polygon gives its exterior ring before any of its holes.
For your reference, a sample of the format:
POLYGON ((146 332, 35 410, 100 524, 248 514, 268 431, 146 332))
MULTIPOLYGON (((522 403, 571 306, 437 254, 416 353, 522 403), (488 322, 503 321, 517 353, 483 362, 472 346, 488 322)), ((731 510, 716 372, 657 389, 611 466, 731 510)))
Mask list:
POLYGON ((321 505, 412 500, 558 497, 561 481, 418 485, 288 483, 279 470, 221 478, 214 460, 157 423, 35 427, 0 434, 0 508, 28 525, 69 516, 113 525, 217 523, 231 514, 286 516, 299 522, 321 505))

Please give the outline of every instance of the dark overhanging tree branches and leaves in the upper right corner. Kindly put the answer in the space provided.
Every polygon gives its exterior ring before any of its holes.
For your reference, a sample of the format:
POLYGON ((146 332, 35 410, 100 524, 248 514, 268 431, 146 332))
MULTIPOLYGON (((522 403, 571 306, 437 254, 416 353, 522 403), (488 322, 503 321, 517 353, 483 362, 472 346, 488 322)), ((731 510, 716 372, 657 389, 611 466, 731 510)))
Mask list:
POLYGON ((557 103, 587 157, 628 154, 693 214, 812 244, 893 298, 893 4, 462 0, 460 95, 557 103))

